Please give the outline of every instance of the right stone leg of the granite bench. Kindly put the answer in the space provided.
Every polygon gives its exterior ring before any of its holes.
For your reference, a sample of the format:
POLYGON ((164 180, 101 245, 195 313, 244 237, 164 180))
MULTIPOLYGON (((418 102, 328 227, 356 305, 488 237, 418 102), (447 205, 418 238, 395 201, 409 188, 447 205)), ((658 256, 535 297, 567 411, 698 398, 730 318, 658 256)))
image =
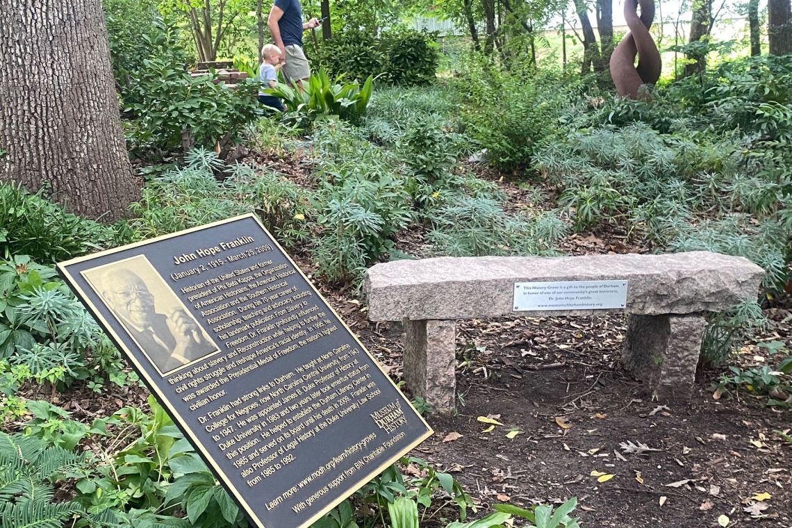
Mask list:
POLYGON ((658 397, 687 401, 705 328, 700 313, 630 315, 622 363, 658 397))

